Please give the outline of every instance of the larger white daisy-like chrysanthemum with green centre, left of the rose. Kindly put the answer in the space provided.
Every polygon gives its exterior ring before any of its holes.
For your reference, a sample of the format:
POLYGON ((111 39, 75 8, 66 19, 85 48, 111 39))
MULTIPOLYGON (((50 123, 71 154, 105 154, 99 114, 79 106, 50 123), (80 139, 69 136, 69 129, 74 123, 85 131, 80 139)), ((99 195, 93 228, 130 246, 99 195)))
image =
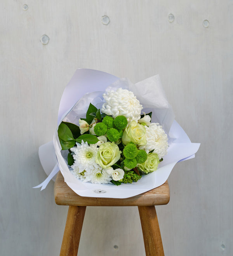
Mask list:
POLYGON ((88 145, 87 142, 76 143, 77 147, 71 148, 70 150, 73 151, 75 154, 73 158, 75 162, 73 166, 77 166, 79 168, 79 172, 86 170, 92 170, 95 168, 99 168, 99 165, 96 163, 96 154, 98 152, 98 148, 96 145, 91 144, 88 145))

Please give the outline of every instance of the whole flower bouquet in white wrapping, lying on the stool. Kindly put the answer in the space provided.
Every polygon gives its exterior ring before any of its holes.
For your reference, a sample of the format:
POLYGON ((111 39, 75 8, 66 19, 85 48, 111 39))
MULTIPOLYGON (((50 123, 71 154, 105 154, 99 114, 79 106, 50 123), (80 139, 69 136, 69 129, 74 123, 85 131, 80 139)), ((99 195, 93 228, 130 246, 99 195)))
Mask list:
MULTIPOLYGON (((77 194, 108 198, 162 185, 200 145, 174 121, 158 76, 133 85, 90 69, 78 69, 64 90, 53 144, 57 163, 42 189, 60 169, 77 194)), ((49 152, 51 143, 40 147, 44 169, 49 152)))

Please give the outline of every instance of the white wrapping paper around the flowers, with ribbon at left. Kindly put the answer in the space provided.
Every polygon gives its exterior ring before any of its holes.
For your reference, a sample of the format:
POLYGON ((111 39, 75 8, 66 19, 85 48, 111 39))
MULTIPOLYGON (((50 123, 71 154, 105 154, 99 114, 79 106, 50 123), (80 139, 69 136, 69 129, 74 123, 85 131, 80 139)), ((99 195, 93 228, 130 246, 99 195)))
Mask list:
MULTIPOLYGON (((53 160, 53 173, 50 174, 50 178, 47 178, 45 182, 37 187, 44 189, 49 179, 52 178, 51 176, 54 176, 54 173, 60 169, 66 184, 80 196, 128 198, 162 185, 177 162, 194 157, 200 144, 191 143, 183 129, 174 121, 174 113, 167 101, 158 75, 132 84, 129 79, 119 79, 105 72, 78 69, 62 95, 59 106, 58 126, 62 121, 78 125, 78 120, 81 117, 85 117, 90 102, 97 108, 101 108, 103 93, 107 90, 117 90, 120 87, 134 92, 140 104, 143 105, 143 111, 146 113, 153 112, 151 122, 160 123, 169 135, 168 154, 163 157, 158 169, 153 173, 144 175, 138 182, 132 184, 116 186, 113 184, 83 183, 71 174, 67 162, 63 158, 64 151, 62 151, 63 153, 61 152, 56 130, 53 143, 59 168, 56 168, 56 162, 53 160)), ((50 155, 54 155, 54 150, 51 150, 51 147, 50 150, 46 150, 45 148, 51 145, 49 143, 47 143, 47 146, 45 145, 41 147, 47 153, 42 154, 41 151, 43 150, 40 147, 39 156, 43 168, 48 169, 49 163, 46 159, 49 159, 50 155)))

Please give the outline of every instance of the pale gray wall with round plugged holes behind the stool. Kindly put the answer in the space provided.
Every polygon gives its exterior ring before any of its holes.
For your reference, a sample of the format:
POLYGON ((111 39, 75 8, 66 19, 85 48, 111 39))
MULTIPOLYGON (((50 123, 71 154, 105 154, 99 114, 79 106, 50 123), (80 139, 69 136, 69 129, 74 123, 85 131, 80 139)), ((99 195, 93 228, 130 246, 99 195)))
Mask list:
MULTIPOLYGON (((169 204, 156 207, 165 255, 231 256, 233 2, 2 0, 1 7, 0 255, 59 255, 68 207, 54 203, 53 182, 42 192, 32 187, 46 178, 38 147, 52 140, 64 87, 83 67, 132 82, 160 75, 177 122, 201 143, 195 159, 173 169, 169 204)), ((135 207, 89 207, 78 255, 145 255, 140 225, 135 207)))

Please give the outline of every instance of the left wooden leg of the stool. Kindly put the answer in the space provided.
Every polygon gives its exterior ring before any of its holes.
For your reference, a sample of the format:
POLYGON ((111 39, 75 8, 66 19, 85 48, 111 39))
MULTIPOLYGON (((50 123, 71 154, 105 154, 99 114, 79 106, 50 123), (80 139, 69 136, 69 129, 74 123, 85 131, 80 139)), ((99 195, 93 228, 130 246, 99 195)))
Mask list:
POLYGON ((77 256, 85 211, 85 206, 69 207, 60 256, 77 256))

